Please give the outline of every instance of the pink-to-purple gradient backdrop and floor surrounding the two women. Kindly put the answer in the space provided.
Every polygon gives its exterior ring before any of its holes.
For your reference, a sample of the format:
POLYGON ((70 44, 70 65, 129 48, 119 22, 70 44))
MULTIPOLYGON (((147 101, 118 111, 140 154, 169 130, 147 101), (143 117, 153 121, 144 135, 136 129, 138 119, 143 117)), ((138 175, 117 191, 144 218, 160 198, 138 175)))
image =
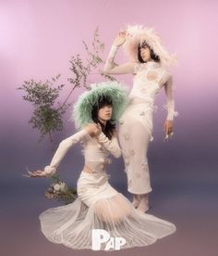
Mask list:
MULTIPOLYGON (((0 243, 1 254, 84 255, 48 242, 40 231, 38 215, 58 205, 43 199, 47 180, 21 177, 25 167, 42 168, 51 159, 48 141, 28 124, 30 105, 16 90, 24 80, 44 80, 57 73, 67 83, 68 60, 84 52, 81 40, 91 43, 99 26, 105 58, 119 28, 126 24, 156 28, 164 45, 177 53, 173 70, 176 85, 175 137, 163 143, 165 110, 163 92, 154 115, 154 141, 149 160, 153 192, 151 213, 176 224, 175 235, 147 248, 111 252, 110 255, 217 256, 218 255, 218 2, 209 1, 0 1, 0 243)), ((118 62, 127 59, 118 54, 118 62)), ((131 76, 118 77, 131 85, 131 76)), ((91 83, 99 78, 91 78, 91 83)), ((67 85, 66 93, 70 89, 67 85)), ((77 98, 75 92, 71 100, 77 98)), ((58 142, 73 133, 67 122, 58 142)), ((70 150, 61 164, 64 179, 74 186, 82 166, 79 147, 70 150), (73 167, 72 170, 71 166, 73 167)), ((123 161, 110 167, 111 183, 128 198, 123 161)), ((90 255, 97 252, 89 251, 90 255)), ((104 255, 99 252, 98 255, 104 255)))

